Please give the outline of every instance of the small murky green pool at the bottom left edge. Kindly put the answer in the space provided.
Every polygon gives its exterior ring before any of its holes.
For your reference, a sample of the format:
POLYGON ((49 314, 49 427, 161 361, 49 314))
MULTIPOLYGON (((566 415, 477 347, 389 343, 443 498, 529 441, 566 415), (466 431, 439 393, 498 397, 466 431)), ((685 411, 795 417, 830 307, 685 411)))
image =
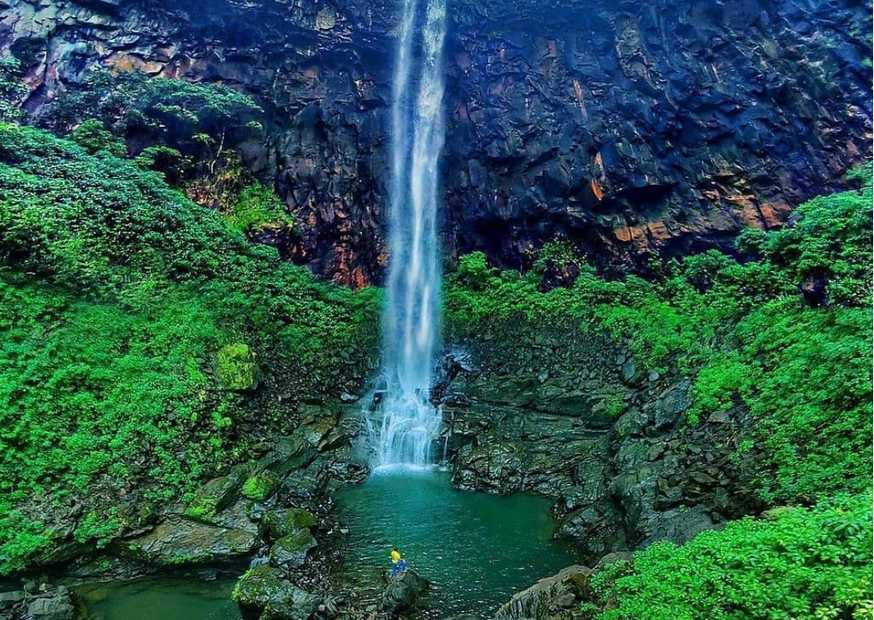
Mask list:
POLYGON ((76 588, 87 620, 240 620, 234 580, 141 579, 76 588))

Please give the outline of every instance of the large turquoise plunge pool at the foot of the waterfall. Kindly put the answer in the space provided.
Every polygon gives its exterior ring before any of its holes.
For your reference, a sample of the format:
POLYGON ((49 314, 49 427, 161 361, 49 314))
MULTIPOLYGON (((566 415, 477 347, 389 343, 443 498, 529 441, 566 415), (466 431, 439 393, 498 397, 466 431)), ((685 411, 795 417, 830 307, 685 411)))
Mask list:
POLYGON ((458 491, 442 472, 377 472, 337 502, 349 529, 344 571, 367 578, 388 567, 397 545, 432 582, 438 617, 490 617, 514 592, 575 562, 552 539, 547 500, 458 491))

